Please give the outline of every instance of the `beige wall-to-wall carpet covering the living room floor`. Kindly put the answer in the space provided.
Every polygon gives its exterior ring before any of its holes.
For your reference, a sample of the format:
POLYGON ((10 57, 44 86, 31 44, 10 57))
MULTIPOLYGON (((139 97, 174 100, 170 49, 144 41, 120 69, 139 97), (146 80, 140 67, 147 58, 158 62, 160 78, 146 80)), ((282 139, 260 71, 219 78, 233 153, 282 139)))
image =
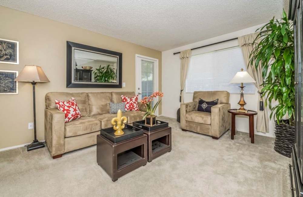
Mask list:
POLYGON ((0 152, 0 196, 290 196, 290 159, 273 138, 226 132, 219 140, 183 132, 176 119, 172 151, 115 183, 96 163, 96 146, 52 159, 48 149, 0 152))

